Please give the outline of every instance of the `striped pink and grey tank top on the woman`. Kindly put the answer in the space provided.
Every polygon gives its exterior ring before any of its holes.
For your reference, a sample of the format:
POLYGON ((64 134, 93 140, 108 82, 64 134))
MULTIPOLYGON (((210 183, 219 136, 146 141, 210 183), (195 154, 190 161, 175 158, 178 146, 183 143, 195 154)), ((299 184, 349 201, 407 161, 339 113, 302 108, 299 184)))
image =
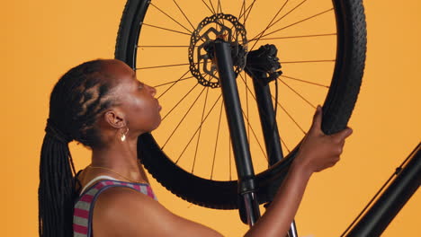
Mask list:
POLYGON ((130 183, 106 175, 101 175, 91 180, 85 185, 85 188, 80 192, 79 198, 76 199, 75 211, 73 215, 73 236, 74 237, 92 237, 92 216, 94 215, 94 203, 98 196, 106 189, 112 187, 128 187, 135 189, 140 193, 148 195, 150 198, 157 200, 154 192, 148 184, 145 183, 130 183), (100 180, 100 181, 98 181, 100 180), (86 189, 95 183, 92 187, 86 189))

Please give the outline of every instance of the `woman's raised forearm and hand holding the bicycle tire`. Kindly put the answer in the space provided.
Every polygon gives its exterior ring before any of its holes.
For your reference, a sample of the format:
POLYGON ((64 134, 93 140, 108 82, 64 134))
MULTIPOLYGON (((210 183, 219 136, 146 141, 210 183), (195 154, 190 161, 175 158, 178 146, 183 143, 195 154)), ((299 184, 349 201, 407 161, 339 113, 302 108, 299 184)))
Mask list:
POLYGON ((352 134, 352 129, 346 128, 327 136, 321 130, 321 120, 322 111, 318 107, 309 133, 304 138, 300 151, 271 206, 246 236, 284 236, 297 213, 311 174, 325 170, 339 161, 345 138, 352 134))

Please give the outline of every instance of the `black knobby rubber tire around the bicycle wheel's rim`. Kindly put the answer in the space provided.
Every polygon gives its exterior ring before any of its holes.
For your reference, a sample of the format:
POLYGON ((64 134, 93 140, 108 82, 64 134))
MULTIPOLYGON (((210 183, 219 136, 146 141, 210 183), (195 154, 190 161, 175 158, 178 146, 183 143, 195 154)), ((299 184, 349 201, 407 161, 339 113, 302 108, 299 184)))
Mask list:
MULTIPOLYGON (((136 66, 136 46, 148 0, 128 0, 117 36, 115 58, 136 66)), ((360 91, 366 52, 366 27, 362 0, 333 0, 336 12, 336 66, 323 105, 322 129, 327 134, 346 127, 360 91)), ((298 151, 297 145, 281 162, 256 174, 259 203, 270 201, 298 151)), ((141 162, 166 189, 185 200, 210 208, 237 208, 237 180, 206 180, 184 171, 159 148, 151 134, 139 136, 141 162)))

